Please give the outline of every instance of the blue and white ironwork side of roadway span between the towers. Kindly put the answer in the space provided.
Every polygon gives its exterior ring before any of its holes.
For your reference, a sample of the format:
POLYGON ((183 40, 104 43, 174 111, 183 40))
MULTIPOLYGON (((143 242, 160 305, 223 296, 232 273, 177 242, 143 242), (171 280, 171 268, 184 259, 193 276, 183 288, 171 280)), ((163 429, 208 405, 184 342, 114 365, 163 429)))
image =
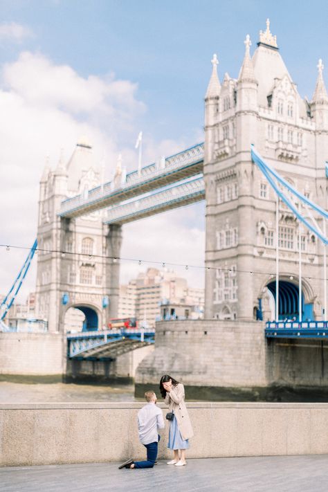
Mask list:
MULTIPOLYGON (((136 342, 131 348, 149 345, 155 341, 154 329, 111 329, 105 331, 85 331, 78 334, 67 334, 68 356, 75 358, 90 352, 92 349, 105 348, 109 344, 119 342, 136 342)), ((100 352, 101 353, 101 352, 100 352)), ((87 354, 86 354, 87 355, 87 354)))

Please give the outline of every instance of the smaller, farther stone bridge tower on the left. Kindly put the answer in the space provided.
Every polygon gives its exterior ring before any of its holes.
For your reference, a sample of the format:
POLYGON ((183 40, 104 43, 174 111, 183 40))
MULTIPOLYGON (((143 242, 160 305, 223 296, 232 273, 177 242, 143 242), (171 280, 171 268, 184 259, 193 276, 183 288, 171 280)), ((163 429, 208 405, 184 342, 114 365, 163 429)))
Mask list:
MULTIPOLYGON (((91 145, 82 139, 67 164, 44 169, 39 188, 37 316, 49 331, 64 331, 70 307, 84 313, 84 329, 98 329, 118 311, 121 228, 103 224, 103 211, 76 219, 58 215, 60 203, 99 185, 91 145)), ((68 327, 69 328, 69 327, 68 327)))

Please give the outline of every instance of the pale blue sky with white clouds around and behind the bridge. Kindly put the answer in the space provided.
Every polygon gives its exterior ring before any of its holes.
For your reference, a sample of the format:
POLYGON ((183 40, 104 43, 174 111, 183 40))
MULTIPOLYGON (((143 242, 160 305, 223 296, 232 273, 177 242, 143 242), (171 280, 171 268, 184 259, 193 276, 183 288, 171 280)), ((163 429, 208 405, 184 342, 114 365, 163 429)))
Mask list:
MULTIPOLYGON (((30 246, 39 179, 86 135, 106 177, 203 140, 203 96, 213 53, 237 78, 250 35, 266 18, 298 91, 311 98, 318 59, 328 67, 327 1, 0 0, 0 243, 30 246), (297 5, 297 10, 295 9, 297 5)), ((324 73, 325 75, 325 73, 324 73)), ((326 80, 328 75, 326 73, 326 80)), ((205 205, 124 226, 122 257, 202 265, 205 205)), ((26 251, 0 248, 0 294, 26 251)), ((121 282, 147 268, 122 264, 121 282)), ((203 286, 200 268, 175 268, 203 286)), ((21 298, 35 289, 35 265, 21 298)))

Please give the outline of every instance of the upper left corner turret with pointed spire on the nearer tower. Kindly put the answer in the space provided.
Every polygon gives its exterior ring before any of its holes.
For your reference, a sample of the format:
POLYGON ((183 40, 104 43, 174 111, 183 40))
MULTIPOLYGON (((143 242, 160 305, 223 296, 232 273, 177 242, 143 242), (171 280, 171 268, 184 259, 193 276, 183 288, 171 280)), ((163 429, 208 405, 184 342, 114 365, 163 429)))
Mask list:
POLYGON ((219 98, 221 93, 221 84, 217 75, 217 55, 212 57, 212 75, 208 84, 205 95, 205 161, 212 160, 213 149, 215 145, 215 125, 219 118, 219 98))

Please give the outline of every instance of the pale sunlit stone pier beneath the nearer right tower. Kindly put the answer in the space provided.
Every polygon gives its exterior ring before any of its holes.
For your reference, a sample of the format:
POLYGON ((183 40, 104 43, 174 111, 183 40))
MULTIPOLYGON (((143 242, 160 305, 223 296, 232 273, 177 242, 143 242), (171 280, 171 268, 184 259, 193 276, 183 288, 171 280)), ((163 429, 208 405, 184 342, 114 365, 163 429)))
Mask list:
POLYGON ((170 374, 185 385, 264 387, 264 323, 177 320, 156 323, 155 349, 138 366, 136 383, 170 374))

